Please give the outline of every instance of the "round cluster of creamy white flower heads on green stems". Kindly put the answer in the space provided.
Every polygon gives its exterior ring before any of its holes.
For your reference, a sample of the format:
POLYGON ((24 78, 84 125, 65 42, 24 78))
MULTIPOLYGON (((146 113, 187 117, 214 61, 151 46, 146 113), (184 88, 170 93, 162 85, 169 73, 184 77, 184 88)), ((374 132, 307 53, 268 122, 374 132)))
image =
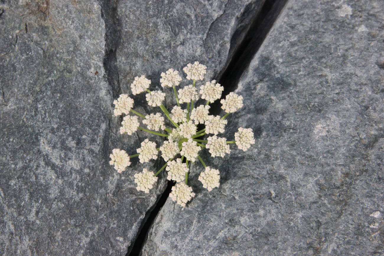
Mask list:
POLYGON ((253 131, 250 128, 238 128, 235 132, 235 140, 228 141, 220 134, 224 132, 227 125, 226 118, 243 106, 243 97, 230 92, 225 99, 222 99, 222 109, 226 114, 222 117, 209 114, 209 104, 220 99, 223 86, 215 80, 203 83, 199 89, 196 87, 196 81, 202 81, 206 74, 207 67, 195 62, 188 64, 183 70, 187 74, 186 78, 192 81, 192 84, 176 90, 182 81, 179 72, 174 69, 168 69, 161 73, 160 84, 164 89, 173 88, 177 106, 172 107, 170 112, 163 105, 166 94, 162 91, 150 91, 151 80, 145 76, 136 77, 131 84, 132 94, 146 93, 146 100, 149 106, 153 107, 155 112, 151 114, 141 114, 133 109, 134 100, 127 94, 121 94, 113 103, 115 105, 114 115, 125 114, 120 127, 121 134, 132 135, 137 130, 149 132, 165 137, 166 140, 160 147, 156 143, 145 139, 141 142, 141 147, 137 149, 137 154, 128 155, 125 150, 114 149, 110 155, 109 164, 114 165, 118 173, 126 170, 131 165, 131 159, 138 157, 141 163, 157 159, 159 152, 166 163, 156 173, 144 168, 142 172, 134 174, 135 183, 138 191, 149 193, 157 182, 157 175, 166 169, 167 179, 174 180, 176 185, 172 187, 170 198, 179 205, 185 207, 195 193, 192 187, 188 186, 189 166, 197 159, 204 166, 204 171, 200 173, 199 181, 202 187, 211 191, 220 186, 220 172, 205 164, 199 153, 207 149, 212 157, 224 157, 230 153, 230 144, 236 144, 238 149, 246 151, 255 144, 253 131), (195 107, 195 101, 204 99, 206 102, 195 107), (183 106, 182 106, 183 105, 183 106), (165 116, 165 117, 164 117, 165 116), (166 120, 169 121, 166 123, 166 120), (147 128, 141 127, 141 123, 147 128), (167 126, 167 125, 170 126, 167 126), (204 129, 197 130, 197 125, 202 124, 204 129), (172 128, 170 128, 172 126, 172 128), (201 139, 208 134, 206 140, 201 139))

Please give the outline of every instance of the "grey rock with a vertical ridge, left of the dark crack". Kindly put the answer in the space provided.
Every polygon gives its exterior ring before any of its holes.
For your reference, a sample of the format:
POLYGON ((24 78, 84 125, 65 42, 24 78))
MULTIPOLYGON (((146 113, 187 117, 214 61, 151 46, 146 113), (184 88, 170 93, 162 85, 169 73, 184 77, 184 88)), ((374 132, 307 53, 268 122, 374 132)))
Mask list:
POLYGON ((212 79, 263 2, 0 1, 0 254, 124 255, 166 182, 135 188, 160 161, 109 165, 144 140, 119 134, 113 99, 195 60, 212 79))

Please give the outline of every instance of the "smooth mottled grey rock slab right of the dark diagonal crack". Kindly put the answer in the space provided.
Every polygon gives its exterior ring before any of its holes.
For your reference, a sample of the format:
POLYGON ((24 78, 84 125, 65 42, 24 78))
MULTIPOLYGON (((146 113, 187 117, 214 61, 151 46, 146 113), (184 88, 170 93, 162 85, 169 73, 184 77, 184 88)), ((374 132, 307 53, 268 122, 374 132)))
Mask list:
POLYGON ((225 159, 212 192, 170 198, 144 255, 382 255, 382 1, 291 0, 243 74, 225 136, 256 144, 225 159))

